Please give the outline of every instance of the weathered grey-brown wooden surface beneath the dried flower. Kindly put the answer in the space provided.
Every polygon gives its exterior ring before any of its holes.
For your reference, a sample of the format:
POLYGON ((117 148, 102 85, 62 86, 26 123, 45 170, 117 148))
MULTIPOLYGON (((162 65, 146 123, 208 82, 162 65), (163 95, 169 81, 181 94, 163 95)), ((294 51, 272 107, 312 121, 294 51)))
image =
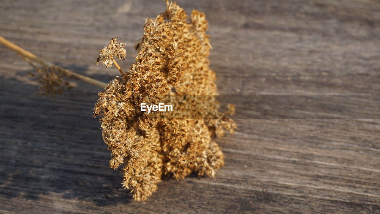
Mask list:
MULTIPOLYGON (((367 95, 380 95, 377 0, 178 3, 206 13, 220 94, 347 96, 340 104, 362 95, 359 112, 373 105, 367 95)), ((125 38, 127 69, 144 18, 164 10, 161 0, 2 0, 0 35, 109 81, 107 73, 118 72, 95 64, 100 48, 125 38)), ((92 118, 100 89, 80 84, 57 99, 33 96, 28 71, 0 46, 0 213, 380 213, 380 117, 318 118, 310 110, 317 118, 266 111, 268 118, 236 120, 233 136, 216 139, 225 166, 215 179, 168 178, 138 203, 108 168, 92 118)))

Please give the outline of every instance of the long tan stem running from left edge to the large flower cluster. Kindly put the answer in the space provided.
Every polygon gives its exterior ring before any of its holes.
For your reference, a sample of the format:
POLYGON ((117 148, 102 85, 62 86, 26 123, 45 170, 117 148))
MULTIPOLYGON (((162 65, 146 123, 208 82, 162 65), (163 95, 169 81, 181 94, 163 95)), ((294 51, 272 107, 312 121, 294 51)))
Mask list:
POLYGON ((6 38, 0 36, 0 44, 4 45, 5 47, 13 50, 14 52, 16 52, 17 54, 19 54, 20 56, 22 56, 23 58, 26 57, 28 59, 30 59, 31 61, 33 62, 36 62, 42 66, 46 66, 46 67, 55 67, 55 68, 58 68, 60 69, 62 72, 66 73, 66 75, 70 78, 74 78, 74 79, 77 79, 77 80, 81 80, 81 81, 84 81, 85 83, 89 83, 91 85, 95 85, 95 86, 99 86, 100 88, 106 88, 108 86, 107 83, 104 83, 102 81, 99 81, 99 80, 95 80, 93 78, 90 78, 90 77, 86 77, 86 76, 83 76, 83 75, 80 75, 79 73, 75 73, 75 72, 72 72, 70 70, 67 70, 67 69, 63 69, 57 65, 54 65, 52 64, 51 62, 48 62, 32 53, 30 53, 29 51, 27 50, 24 50, 23 48, 21 48, 20 46, 10 42, 9 40, 7 40, 6 38))

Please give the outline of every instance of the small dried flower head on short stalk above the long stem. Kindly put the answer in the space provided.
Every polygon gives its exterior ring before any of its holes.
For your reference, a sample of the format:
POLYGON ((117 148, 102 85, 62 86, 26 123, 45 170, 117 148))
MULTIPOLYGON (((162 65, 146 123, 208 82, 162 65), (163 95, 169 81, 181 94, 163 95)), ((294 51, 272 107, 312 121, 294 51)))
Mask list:
POLYGON ((96 60, 97 64, 101 62, 101 64, 108 68, 112 67, 114 60, 116 59, 119 59, 120 61, 125 60, 127 54, 127 51, 124 48, 125 43, 120 43, 121 41, 117 41, 117 38, 112 38, 111 42, 99 51, 99 56, 96 60))

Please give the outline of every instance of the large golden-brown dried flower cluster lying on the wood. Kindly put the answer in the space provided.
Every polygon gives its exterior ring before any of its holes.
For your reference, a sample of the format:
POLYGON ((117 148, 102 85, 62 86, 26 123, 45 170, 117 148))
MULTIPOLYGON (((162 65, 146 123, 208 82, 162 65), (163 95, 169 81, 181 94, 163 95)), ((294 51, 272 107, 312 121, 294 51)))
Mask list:
MULTIPOLYGON (((204 14, 193 11, 187 22, 185 11, 176 3, 166 5, 165 13, 146 20, 128 78, 112 80, 99 93, 94 109, 111 150, 109 165, 122 166, 122 184, 132 188, 137 201, 152 195, 163 174, 180 179, 196 171, 199 176, 213 177, 223 166, 223 153, 211 137, 236 128, 227 118, 233 105, 218 112, 204 14), (173 112, 147 114, 139 109, 140 103, 159 102, 172 104, 173 112)), ((109 63, 107 56, 102 54, 98 61, 109 63)))

